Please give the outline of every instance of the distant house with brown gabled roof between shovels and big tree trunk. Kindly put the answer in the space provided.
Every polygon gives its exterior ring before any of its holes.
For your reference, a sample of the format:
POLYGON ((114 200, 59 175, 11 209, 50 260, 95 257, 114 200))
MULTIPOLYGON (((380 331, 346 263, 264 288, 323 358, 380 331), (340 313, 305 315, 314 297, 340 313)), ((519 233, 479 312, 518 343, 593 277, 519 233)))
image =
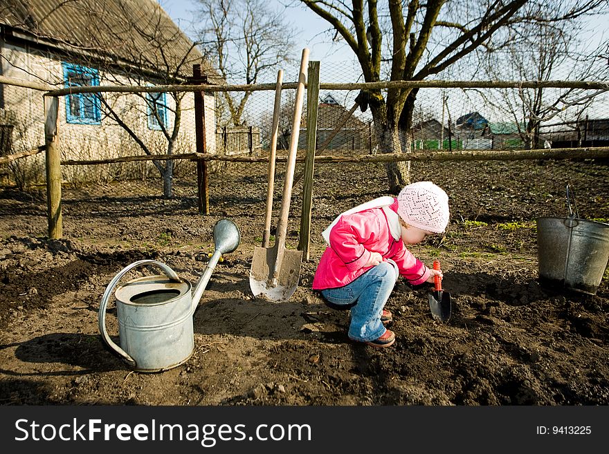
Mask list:
MULTIPOLYGON (((327 150, 353 151, 370 148, 370 124, 363 122, 349 110, 340 105, 331 94, 320 100, 317 114, 317 140, 316 147, 325 145, 327 150), (336 128, 348 116, 347 122, 340 127, 334 137, 336 128), (331 139, 330 139, 331 138, 331 139), (326 142, 330 140, 327 144, 326 142)), ((289 135, 289 133, 288 133, 289 135)), ((284 140, 289 143, 289 138, 284 140)), ((307 148, 307 112, 302 113, 300 120, 300 133, 298 135, 298 149, 307 148)))

